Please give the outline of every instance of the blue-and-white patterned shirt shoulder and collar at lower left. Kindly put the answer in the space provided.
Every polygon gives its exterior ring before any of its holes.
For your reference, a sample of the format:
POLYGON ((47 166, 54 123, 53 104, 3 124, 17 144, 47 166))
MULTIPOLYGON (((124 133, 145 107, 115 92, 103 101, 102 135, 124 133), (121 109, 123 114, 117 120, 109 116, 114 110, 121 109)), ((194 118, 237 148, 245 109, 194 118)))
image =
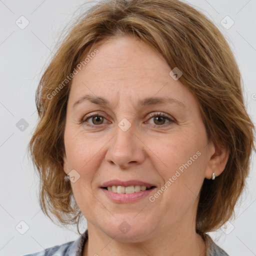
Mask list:
POLYGON ((82 254, 83 245, 87 239, 86 231, 75 241, 55 245, 23 256, 80 256, 82 254))

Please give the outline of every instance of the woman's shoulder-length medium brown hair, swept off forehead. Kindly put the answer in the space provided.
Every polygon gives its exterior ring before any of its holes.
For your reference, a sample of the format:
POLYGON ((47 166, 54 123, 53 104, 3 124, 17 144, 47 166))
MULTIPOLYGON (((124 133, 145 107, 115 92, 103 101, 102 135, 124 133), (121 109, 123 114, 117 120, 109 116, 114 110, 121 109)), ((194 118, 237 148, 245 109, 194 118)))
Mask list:
POLYGON ((233 215, 244 188, 251 150, 255 150, 254 126, 244 107, 240 72, 228 43, 207 17, 178 0, 101 1, 70 29, 36 92, 39 121, 29 150, 40 177, 40 206, 61 225, 76 223, 79 232, 82 214, 63 171, 71 85, 63 81, 95 45, 124 35, 155 48, 171 69, 182 71, 179 80, 197 99, 208 141, 229 150, 223 172, 214 181, 204 179, 198 202, 196 231, 215 230, 233 215))

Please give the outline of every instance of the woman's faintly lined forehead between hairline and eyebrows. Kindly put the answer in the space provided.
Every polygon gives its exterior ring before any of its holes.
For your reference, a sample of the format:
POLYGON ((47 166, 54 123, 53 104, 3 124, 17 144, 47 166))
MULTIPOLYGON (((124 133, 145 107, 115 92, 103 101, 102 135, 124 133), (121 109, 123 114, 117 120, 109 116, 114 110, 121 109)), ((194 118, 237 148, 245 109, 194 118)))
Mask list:
POLYGON ((182 97, 188 93, 181 82, 169 75, 171 69, 164 57, 138 39, 111 38, 95 48, 98 53, 93 54, 72 79, 70 99, 73 102, 88 93, 105 95, 110 101, 116 96, 118 100, 124 96, 132 100, 154 95, 173 95, 183 101, 182 97))

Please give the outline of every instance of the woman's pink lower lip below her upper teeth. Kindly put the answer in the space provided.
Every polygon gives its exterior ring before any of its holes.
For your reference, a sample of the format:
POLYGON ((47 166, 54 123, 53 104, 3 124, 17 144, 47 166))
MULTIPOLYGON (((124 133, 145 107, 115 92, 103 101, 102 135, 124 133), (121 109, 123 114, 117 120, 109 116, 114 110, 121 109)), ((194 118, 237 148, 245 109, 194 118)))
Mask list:
POLYGON ((139 192, 126 194, 126 193, 115 193, 115 192, 108 191, 107 189, 104 189, 104 188, 100 187, 100 189, 103 190, 103 192, 105 193, 105 195, 108 198, 110 198, 114 202, 118 202, 118 203, 129 203, 129 202, 137 201, 141 198, 146 197, 155 188, 156 187, 151 188, 151 189, 147 189, 147 190, 144 190, 144 191, 139 191, 139 192))

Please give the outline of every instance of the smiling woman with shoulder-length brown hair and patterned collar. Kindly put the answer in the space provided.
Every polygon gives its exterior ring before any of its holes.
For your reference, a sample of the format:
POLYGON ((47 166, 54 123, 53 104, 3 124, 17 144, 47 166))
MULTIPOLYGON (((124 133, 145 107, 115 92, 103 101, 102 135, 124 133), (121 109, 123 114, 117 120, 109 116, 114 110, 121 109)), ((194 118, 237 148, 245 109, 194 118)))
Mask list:
POLYGON ((99 2, 36 94, 40 205, 88 228, 30 255, 227 255, 206 234, 233 213, 254 126, 218 29, 177 0, 99 2))

